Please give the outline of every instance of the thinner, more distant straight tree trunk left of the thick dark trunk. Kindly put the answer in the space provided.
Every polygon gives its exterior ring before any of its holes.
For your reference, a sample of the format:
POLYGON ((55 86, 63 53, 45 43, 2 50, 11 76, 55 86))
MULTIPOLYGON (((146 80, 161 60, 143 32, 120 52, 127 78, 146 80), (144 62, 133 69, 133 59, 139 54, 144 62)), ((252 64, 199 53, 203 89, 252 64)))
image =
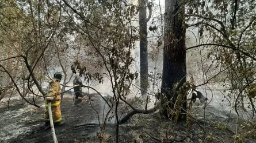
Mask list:
POLYGON ((147 7, 145 0, 139 0, 140 25, 140 88, 146 97, 148 86, 148 53, 147 53, 147 7))

